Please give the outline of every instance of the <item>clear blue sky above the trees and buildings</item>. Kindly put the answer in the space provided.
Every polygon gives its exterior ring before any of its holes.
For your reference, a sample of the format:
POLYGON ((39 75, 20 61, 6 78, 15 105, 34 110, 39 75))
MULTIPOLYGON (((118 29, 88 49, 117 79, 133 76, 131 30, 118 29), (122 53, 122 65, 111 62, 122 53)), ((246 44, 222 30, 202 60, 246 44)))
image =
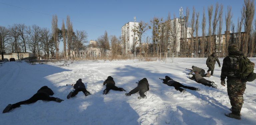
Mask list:
MULTIPOLYGON (((223 21, 227 6, 232 7, 236 25, 237 19, 241 17, 243 0, 0 0, 0 26, 35 24, 51 29, 51 15, 56 14, 60 28, 62 19, 66 21, 66 16, 69 15, 74 31, 86 31, 89 41, 96 40, 104 31, 119 37, 121 27, 129 21, 133 22, 134 16, 136 22, 147 23, 153 17, 166 19, 168 13, 172 17, 174 14, 178 17, 180 7, 183 7, 184 14, 188 7, 191 17, 194 6, 196 12, 200 12, 201 23, 203 7, 207 11, 207 6, 215 7, 217 2, 223 4, 223 21)), ((207 12, 206 17, 208 18, 207 12)), ((146 32, 144 37, 146 36, 151 37, 151 32, 146 32)))

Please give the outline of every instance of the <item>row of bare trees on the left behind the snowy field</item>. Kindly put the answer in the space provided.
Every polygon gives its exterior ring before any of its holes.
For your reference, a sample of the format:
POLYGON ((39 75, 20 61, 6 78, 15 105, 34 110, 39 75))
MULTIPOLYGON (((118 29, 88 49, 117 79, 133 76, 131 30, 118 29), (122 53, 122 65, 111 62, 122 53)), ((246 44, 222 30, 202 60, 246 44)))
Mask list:
POLYGON ((59 59, 59 44, 63 42, 64 58, 71 58, 85 47, 87 39, 86 31, 73 31, 70 17, 67 16, 66 26, 62 21, 61 29, 58 28, 57 15, 52 17, 52 31, 47 28, 40 28, 37 25, 26 26, 25 24, 14 24, 12 26, 0 26, 0 53, 30 52, 37 57, 44 55, 49 59, 49 55, 59 59))

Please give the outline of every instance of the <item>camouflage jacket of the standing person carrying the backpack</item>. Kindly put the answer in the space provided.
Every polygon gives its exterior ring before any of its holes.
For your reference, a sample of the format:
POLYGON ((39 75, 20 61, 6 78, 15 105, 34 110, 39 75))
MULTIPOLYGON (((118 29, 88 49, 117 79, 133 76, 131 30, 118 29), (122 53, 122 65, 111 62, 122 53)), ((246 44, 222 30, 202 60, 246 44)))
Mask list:
MULTIPOLYGON (((242 56, 244 54, 240 51, 237 51, 237 52, 229 53, 229 56, 231 56, 231 55, 242 56)), ((222 68, 221 68, 221 75, 220 75, 221 79, 220 80, 225 80, 226 77, 228 79, 241 80, 241 78, 232 77, 232 76, 229 75, 229 73, 233 69, 232 67, 230 67, 230 58, 229 58, 229 56, 227 56, 223 59, 223 64, 222 64, 222 68)))

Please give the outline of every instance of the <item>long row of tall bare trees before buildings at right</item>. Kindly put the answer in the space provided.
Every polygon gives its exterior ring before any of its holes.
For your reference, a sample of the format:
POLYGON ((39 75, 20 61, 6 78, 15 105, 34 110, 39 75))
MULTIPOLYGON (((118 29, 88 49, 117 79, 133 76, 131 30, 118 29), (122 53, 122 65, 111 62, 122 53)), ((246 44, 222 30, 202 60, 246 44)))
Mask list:
POLYGON ((235 43, 238 44, 239 50, 249 57, 252 57, 252 53, 256 53, 255 38, 253 37, 255 35, 255 30, 253 29, 255 14, 254 0, 244 0, 241 17, 237 21, 237 29, 235 29, 235 25, 232 22, 233 14, 231 6, 227 6, 227 12, 225 13, 223 13, 222 4, 216 3, 215 6, 208 6, 208 21, 206 20, 205 9, 203 9, 201 23, 199 21, 200 13, 196 12, 194 7, 190 20, 188 20, 189 12, 190 10, 187 8, 186 16, 182 18, 182 20, 185 20, 183 26, 175 18, 175 15, 172 20, 170 14, 168 14, 165 21, 154 17, 150 21, 151 25, 149 27, 148 24, 141 21, 139 23, 140 25, 133 30, 139 36, 138 41, 142 41, 141 36, 145 32, 145 28, 152 29, 152 42, 147 47, 142 47, 143 51, 147 49, 147 54, 151 55, 156 55, 160 52, 175 53, 180 45, 179 53, 181 57, 191 57, 192 53, 194 53, 195 57, 207 57, 213 52, 217 52, 219 57, 225 57, 228 55, 227 47, 229 43, 235 43), (207 22, 208 26, 206 26, 207 22), (222 33, 223 24, 225 25, 225 33, 222 33), (180 34, 183 40, 177 39, 177 35, 183 27, 185 31, 182 32, 183 34, 180 34), (206 31, 207 27, 208 32, 206 31), (242 34, 243 28, 245 35, 242 34), (190 36, 187 36, 187 31, 190 36), (223 34, 226 37, 226 41, 222 39, 223 34), (186 41, 187 39, 189 39, 189 42, 186 41))

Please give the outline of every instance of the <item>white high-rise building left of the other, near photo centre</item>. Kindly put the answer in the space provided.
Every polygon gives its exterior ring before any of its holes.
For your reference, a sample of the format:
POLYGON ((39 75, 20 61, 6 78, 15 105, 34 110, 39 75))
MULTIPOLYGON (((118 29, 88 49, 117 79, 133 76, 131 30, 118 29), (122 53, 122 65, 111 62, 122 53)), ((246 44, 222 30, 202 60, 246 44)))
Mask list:
POLYGON ((128 22, 121 29, 121 40, 122 40, 122 50, 123 53, 132 54, 131 49, 134 50, 134 41, 135 47, 139 46, 140 41, 136 39, 138 35, 132 31, 135 27, 138 27, 138 22, 128 22))

